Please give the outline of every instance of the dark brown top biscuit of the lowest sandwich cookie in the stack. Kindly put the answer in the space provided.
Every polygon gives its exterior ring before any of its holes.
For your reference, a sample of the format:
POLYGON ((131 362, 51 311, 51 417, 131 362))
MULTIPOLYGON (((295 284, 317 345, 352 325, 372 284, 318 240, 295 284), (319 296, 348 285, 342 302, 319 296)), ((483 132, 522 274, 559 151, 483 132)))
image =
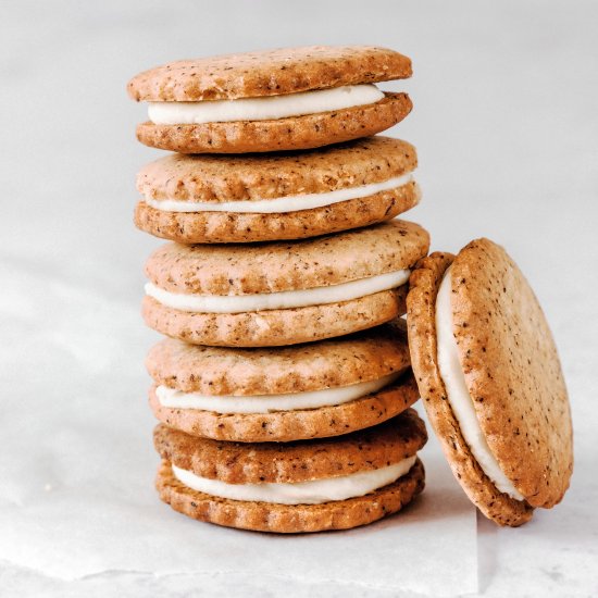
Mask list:
POLYGON ((424 422, 408 409, 375 427, 336 438, 294 443, 225 443, 158 424, 153 440, 163 460, 227 484, 291 484, 386 468, 426 443, 424 422))

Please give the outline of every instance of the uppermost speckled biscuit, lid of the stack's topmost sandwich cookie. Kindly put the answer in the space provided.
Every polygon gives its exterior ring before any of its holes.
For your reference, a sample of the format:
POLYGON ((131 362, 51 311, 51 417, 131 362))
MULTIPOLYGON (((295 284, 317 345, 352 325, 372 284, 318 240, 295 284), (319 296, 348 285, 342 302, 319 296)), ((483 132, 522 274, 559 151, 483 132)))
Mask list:
POLYGON ((127 85, 137 101, 281 96, 411 76, 409 58, 373 46, 311 46, 170 62, 127 85))

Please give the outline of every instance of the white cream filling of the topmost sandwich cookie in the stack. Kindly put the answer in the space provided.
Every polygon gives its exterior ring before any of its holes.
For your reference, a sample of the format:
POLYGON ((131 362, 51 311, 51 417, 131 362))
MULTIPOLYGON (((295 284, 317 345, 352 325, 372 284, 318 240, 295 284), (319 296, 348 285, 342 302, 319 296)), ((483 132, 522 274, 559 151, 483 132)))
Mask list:
POLYGON ((375 103, 382 98, 384 94, 375 85, 349 85, 238 100, 149 102, 148 116, 157 125, 270 121, 375 103))

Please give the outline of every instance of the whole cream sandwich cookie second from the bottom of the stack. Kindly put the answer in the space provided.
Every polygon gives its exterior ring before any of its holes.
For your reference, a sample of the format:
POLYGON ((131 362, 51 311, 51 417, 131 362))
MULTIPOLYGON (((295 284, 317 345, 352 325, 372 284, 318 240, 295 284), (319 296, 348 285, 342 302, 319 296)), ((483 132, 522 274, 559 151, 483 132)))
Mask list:
POLYGON ((166 338, 146 364, 158 420, 219 440, 338 436, 384 422, 420 398, 399 322, 273 349, 199 347, 166 338))

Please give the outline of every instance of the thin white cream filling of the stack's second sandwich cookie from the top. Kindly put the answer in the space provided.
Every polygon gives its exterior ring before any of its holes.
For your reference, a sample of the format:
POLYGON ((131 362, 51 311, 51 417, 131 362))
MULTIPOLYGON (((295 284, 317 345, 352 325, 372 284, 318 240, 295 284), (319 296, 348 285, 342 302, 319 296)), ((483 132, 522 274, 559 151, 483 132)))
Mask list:
POLYGON ((360 197, 373 196, 381 191, 396 189, 413 180, 413 173, 395 176, 382 183, 370 183, 359 187, 347 187, 324 194, 303 194, 297 196, 277 197, 275 199, 257 199, 242 201, 179 201, 175 199, 155 200, 145 197, 148 205, 163 212, 235 212, 246 214, 282 214, 313 210, 324 205, 332 205, 341 201, 349 201, 360 197))

